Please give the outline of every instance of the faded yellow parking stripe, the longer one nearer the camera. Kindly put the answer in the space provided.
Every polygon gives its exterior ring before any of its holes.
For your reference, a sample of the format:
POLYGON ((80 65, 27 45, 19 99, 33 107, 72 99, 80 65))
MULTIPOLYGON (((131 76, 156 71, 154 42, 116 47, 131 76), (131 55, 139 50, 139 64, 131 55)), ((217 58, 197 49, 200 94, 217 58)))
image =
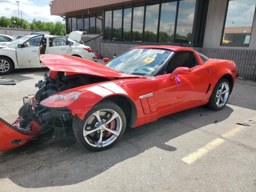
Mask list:
POLYGON ((208 144, 206 144, 205 146, 199 148, 198 150, 190 153, 188 156, 182 158, 181 160, 186 162, 187 164, 192 164, 193 162, 195 162, 196 160, 200 159, 202 156, 207 154, 209 150, 212 150, 217 146, 219 146, 220 144, 222 144, 222 142, 224 142, 223 139, 216 138, 211 142, 209 142, 208 144))

